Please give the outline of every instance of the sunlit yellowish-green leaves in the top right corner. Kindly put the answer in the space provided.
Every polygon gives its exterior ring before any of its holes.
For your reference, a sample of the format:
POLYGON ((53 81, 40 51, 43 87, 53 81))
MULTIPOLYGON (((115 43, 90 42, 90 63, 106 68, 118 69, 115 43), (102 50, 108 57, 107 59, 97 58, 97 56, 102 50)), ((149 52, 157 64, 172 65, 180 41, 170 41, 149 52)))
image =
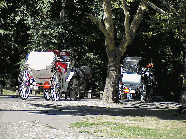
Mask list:
POLYGON ((161 2, 158 6, 164 12, 156 12, 156 14, 151 15, 152 20, 150 28, 156 31, 151 32, 150 34, 152 35, 158 32, 167 33, 173 31, 175 38, 185 41, 185 4, 184 0, 163 0, 163 2, 161 2))

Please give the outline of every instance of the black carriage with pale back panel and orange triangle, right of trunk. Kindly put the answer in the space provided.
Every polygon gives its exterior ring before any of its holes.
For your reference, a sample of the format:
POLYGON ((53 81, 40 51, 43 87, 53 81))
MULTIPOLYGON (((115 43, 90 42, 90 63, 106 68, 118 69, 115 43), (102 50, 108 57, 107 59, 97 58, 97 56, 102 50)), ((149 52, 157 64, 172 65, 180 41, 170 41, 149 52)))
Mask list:
POLYGON ((152 94, 156 86, 153 74, 153 64, 145 58, 126 57, 121 67, 121 80, 119 83, 119 98, 127 94, 140 96, 141 101, 152 101, 152 94))

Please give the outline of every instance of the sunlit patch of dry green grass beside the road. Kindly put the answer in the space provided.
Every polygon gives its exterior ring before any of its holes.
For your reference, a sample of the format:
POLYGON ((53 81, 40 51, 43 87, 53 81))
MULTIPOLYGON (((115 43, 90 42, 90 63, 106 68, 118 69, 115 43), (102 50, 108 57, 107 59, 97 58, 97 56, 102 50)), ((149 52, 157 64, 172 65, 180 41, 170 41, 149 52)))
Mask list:
POLYGON ((81 133, 105 138, 186 138, 186 122, 157 117, 87 116, 70 125, 81 133))

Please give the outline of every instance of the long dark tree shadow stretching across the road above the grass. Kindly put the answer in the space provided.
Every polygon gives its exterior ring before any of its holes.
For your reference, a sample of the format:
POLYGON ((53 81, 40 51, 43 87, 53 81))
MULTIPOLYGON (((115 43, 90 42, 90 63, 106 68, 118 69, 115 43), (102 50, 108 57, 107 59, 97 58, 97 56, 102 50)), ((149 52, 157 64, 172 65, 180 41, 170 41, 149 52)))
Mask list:
POLYGON ((110 116, 140 116, 140 117, 158 117, 163 120, 186 120, 185 113, 179 113, 179 109, 168 108, 106 108, 95 106, 61 106, 52 104, 30 104, 32 106, 47 108, 33 111, 31 113, 45 114, 45 115, 73 115, 73 116, 86 116, 86 115, 110 115, 110 116))

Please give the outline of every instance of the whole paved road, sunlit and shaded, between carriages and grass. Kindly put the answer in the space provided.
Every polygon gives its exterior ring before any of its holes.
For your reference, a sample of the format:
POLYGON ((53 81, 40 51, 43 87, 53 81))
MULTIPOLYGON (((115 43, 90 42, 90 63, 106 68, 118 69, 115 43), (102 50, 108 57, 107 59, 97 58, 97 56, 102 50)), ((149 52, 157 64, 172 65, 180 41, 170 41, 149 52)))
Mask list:
POLYGON ((45 101, 42 97, 0 97, 0 138, 93 138, 78 133, 70 123, 85 116, 157 116, 161 119, 186 120, 186 114, 178 114, 181 105, 173 102, 140 103, 123 101, 107 104, 99 99, 81 101, 45 101))

